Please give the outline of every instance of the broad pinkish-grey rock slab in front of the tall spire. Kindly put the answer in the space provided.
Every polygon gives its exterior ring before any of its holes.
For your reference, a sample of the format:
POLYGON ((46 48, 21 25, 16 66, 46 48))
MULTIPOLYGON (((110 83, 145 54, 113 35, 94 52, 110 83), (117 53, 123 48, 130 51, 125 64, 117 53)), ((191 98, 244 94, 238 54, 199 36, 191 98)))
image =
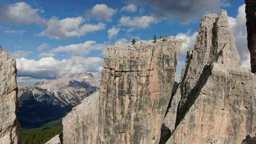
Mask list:
POLYGON ((241 144, 256 127, 254 73, 206 66, 166 144, 241 144))

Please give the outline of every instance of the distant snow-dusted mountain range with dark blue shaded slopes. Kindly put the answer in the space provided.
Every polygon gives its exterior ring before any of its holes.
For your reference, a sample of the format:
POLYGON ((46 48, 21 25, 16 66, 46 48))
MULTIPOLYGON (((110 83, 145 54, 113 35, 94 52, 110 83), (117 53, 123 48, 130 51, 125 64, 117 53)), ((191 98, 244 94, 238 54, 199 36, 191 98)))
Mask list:
POLYGON ((40 80, 19 86, 18 120, 22 128, 37 128, 64 117, 75 105, 99 90, 100 82, 91 73, 40 80))

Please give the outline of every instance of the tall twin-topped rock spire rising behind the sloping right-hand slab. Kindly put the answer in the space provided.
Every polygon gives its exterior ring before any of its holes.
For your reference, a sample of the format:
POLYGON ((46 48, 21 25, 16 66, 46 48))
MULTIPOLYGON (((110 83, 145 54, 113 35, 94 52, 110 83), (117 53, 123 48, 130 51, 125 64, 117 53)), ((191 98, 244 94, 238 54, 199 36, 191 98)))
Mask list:
POLYGON ((182 70, 181 84, 171 101, 164 125, 173 132, 175 124, 180 121, 183 107, 196 86, 204 66, 212 62, 238 67, 240 60, 235 38, 231 33, 226 11, 205 15, 200 24, 195 48, 189 51, 186 64, 182 70))

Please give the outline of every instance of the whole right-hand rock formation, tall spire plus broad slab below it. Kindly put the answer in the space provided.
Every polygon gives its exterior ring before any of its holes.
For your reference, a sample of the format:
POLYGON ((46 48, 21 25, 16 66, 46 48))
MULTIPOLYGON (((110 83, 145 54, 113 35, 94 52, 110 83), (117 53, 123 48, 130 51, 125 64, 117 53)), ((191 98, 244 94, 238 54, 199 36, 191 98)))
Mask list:
POLYGON ((239 60, 227 12, 206 15, 164 120, 172 133, 162 144, 241 144, 254 135, 256 75, 240 69, 239 60))

